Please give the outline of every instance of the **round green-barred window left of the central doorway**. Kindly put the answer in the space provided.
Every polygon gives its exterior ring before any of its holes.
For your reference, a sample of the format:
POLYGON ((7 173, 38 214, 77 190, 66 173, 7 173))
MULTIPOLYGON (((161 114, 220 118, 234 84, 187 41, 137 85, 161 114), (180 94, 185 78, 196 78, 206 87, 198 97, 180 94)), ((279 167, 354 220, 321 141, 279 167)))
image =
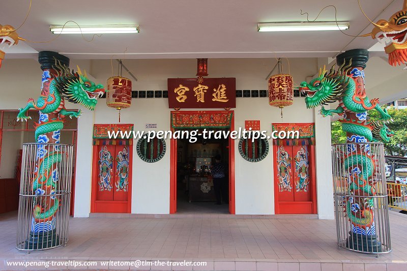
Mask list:
POLYGON ((137 141, 137 155, 144 162, 155 163, 159 161, 165 155, 165 141, 164 139, 153 138, 148 142, 148 133, 144 134, 137 141))

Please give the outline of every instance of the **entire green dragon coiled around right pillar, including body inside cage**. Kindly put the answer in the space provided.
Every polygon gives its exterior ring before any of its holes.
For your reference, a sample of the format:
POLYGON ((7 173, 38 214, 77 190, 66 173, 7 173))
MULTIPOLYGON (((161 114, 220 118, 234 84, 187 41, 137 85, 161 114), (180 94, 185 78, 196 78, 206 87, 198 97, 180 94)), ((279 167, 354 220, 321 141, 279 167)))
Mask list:
POLYGON ((344 170, 348 172, 349 189, 355 197, 347 198, 344 202, 348 219, 353 224, 354 234, 372 235, 375 233, 373 206, 371 200, 363 196, 374 196, 375 191, 375 157, 370 154, 369 144, 362 144, 363 150, 352 142, 389 142, 393 133, 387 128, 386 122, 391 119, 386 109, 379 106, 379 99, 369 101, 364 88, 364 71, 352 68, 352 59, 335 70, 332 66, 329 72, 319 71, 319 76, 309 83, 302 82, 299 90, 306 94, 307 108, 322 105, 319 112, 323 116, 334 113, 343 119, 342 130, 347 132, 347 142, 343 154, 344 170), (323 105, 338 102, 335 109, 325 109, 323 105), (381 119, 371 121, 367 115, 369 110, 377 110, 381 119), (357 197, 357 196, 362 197, 357 197))

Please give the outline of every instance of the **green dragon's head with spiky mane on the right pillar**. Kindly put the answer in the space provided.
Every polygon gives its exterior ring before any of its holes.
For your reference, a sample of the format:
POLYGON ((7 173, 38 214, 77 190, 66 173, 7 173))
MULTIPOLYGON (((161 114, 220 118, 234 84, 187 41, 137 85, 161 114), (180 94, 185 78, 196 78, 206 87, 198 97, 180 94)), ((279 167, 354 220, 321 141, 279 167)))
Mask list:
POLYGON ((302 82, 299 91, 306 94, 305 104, 307 108, 314 108, 326 103, 333 103, 342 98, 350 78, 346 76, 352 62, 345 66, 342 64, 338 71, 335 71, 335 65, 332 66, 329 73, 319 69, 319 76, 312 79, 309 83, 302 82))

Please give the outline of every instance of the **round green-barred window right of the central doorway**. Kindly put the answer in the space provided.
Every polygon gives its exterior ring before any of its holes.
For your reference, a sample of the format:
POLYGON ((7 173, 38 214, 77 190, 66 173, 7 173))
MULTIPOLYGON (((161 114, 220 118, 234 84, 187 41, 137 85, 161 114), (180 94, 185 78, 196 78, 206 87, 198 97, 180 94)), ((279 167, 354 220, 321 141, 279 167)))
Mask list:
POLYGON ((258 162, 269 154, 269 142, 267 139, 241 138, 239 141, 239 153, 249 162, 258 162))

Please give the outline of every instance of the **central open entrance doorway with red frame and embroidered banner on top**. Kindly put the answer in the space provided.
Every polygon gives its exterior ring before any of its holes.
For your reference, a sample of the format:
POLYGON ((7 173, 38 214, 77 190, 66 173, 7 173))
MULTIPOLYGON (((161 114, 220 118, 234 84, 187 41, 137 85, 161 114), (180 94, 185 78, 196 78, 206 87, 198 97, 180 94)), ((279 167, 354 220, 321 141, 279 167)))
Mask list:
MULTIPOLYGON (((174 131, 181 129, 233 131, 235 129, 233 113, 231 110, 171 111, 171 127, 174 131)), ((203 141, 202 137, 197 136, 196 143, 193 145, 194 143, 188 141, 171 138, 169 213, 235 214, 235 140, 228 136, 211 140, 207 138, 203 141), (214 204, 215 187, 210 174, 210 166, 215 163, 217 151, 221 156, 221 162, 227 167, 226 184, 221 185, 220 193, 221 198, 223 194, 223 201, 226 200, 228 203, 220 205, 214 204), (210 191, 213 191, 213 194, 210 191)))

